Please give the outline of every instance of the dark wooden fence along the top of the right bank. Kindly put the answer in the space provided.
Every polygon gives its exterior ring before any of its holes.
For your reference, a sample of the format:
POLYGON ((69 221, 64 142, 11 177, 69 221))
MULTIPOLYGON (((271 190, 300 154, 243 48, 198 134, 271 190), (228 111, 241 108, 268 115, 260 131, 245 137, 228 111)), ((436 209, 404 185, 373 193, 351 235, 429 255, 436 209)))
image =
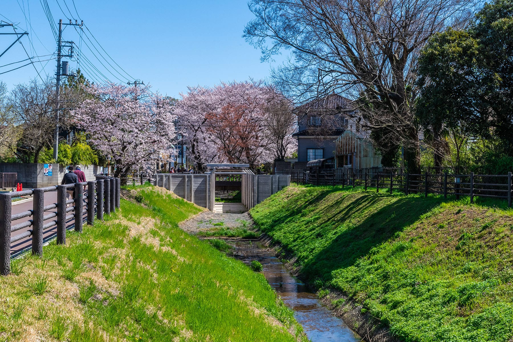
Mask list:
POLYGON ((426 197, 429 193, 441 194, 444 197, 455 195, 474 197, 493 197, 507 200, 511 208, 511 172, 507 175, 482 174, 408 174, 408 173, 337 173, 326 171, 320 174, 305 172, 303 184, 341 185, 342 187, 376 188, 380 190, 402 191, 406 194, 421 193, 426 197))

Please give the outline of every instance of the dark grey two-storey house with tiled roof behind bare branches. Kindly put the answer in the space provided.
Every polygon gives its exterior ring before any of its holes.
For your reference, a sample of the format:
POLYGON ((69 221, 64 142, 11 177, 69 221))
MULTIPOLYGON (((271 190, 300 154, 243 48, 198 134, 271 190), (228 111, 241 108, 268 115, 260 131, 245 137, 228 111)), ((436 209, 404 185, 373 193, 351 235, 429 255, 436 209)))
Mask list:
POLYGON ((298 162, 295 169, 304 169, 314 159, 331 158, 335 140, 346 130, 358 131, 357 123, 348 115, 351 101, 338 94, 313 100, 295 109, 298 116, 298 162))

